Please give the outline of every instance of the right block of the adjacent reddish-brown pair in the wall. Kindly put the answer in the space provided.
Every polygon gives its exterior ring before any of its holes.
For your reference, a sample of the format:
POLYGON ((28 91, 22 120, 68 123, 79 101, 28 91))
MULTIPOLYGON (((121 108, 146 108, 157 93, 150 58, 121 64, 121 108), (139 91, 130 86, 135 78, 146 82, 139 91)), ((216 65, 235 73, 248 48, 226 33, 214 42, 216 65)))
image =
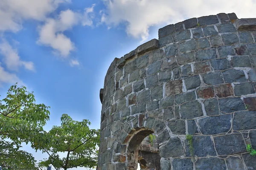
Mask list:
POLYGON ((219 98, 234 96, 234 90, 230 83, 215 85, 215 93, 219 98))

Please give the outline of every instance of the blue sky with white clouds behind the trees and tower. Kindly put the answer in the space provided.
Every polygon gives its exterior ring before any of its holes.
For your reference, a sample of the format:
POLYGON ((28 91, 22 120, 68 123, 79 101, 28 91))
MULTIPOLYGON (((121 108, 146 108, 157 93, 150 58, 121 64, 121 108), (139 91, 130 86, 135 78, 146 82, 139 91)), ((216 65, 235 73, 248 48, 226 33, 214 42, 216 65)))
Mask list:
POLYGON ((252 18, 255 8, 256 0, 0 0, 0 95, 15 82, 34 91, 51 107, 46 130, 63 113, 100 128, 99 89, 115 57, 168 24, 220 12, 252 18))

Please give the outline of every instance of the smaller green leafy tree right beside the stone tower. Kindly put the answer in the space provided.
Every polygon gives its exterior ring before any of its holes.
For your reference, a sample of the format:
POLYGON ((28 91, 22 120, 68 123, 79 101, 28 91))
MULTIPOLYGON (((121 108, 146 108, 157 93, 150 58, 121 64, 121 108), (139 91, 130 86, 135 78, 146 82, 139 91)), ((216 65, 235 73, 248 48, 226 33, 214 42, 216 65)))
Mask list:
POLYGON ((86 119, 75 121, 67 114, 61 116, 61 126, 54 126, 45 133, 44 139, 38 138, 32 147, 43 150, 48 159, 40 162, 42 167, 52 164, 55 169, 67 170, 73 167, 96 167, 99 144, 99 130, 90 129, 86 119), (61 158, 58 153, 66 156, 61 158))

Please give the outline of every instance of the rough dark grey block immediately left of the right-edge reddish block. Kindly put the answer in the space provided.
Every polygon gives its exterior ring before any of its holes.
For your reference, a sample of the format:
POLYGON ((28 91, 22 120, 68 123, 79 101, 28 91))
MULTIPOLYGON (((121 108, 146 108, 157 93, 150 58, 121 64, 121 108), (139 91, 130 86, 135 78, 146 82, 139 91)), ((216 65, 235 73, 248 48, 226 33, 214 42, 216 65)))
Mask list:
POLYGON ((244 111, 244 102, 240 97, 230 97, 219 99, 220 109, 224 113, 232 113, 235 111, 244 111))

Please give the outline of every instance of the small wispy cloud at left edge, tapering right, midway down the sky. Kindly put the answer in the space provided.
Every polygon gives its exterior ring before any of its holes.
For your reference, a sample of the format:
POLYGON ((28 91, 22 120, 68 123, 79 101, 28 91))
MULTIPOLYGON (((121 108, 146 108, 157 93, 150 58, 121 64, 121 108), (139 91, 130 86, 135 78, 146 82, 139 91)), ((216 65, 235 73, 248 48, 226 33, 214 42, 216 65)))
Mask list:
POLYGON ((20 60, 17 49, 12 48, 12 46, 5 40, 0 44, 0 54, 2 54, 3 62, 9 70, 18 71, 20 66, 23 66, 30 71, 35 70, 34 63, 20 60))

